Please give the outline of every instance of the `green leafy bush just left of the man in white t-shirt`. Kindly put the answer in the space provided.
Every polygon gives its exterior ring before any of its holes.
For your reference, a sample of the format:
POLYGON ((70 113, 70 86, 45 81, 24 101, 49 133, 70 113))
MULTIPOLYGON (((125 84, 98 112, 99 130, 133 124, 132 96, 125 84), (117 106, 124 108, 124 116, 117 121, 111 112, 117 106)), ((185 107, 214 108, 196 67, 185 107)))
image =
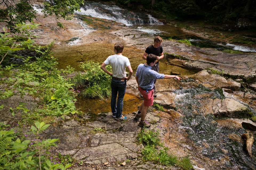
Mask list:
MULTIPOLYGON (((103 98, 111 94, 111 76, 100 68, 99 63, 86 62, 80 67, 85 70, 86 74, 76 76, 74 84, 86 86, 81 92, 83 97, 103 98)), ((107 65, 106 68, 110 71, 111 66, 107 65)))

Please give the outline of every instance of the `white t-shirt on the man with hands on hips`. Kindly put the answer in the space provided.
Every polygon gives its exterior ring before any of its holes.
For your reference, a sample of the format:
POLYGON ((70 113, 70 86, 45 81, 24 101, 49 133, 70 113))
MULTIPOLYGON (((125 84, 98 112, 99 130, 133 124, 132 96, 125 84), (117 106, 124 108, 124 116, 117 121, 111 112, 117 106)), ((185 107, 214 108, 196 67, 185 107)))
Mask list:
POLYGON ((112 67, 113 77, 123 78, 126 77, 125 67, 130 66, 130 61, 123 55, 110 55, 104 62, 106 65, 110 64, 112 67))

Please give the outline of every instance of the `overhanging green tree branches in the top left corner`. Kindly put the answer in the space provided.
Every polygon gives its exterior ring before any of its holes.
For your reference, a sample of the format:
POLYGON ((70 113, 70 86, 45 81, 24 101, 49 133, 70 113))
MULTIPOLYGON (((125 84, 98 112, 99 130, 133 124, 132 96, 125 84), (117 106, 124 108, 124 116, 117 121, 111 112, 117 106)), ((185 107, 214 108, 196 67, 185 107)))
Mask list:
MULTIPOLYGON (((6 22, 7 28, 10 28, 13 32, 19 32, 19 29, 16 27, 16 24, 25 23, 26 21, 33 21, 35 19, 37 11, 34 10, 34 5, 40 5, 43 7, 42 12, 44 16, 55 15, 56 19, 72 19, 74 11, 80 9, 80 5, 83 4, 82 0, 52 0, 47 1, 43 0, 39 2, 30 1, 30 0, 6 0, 3 1, 1 5, 5 8, 0 9, 0 22, 6 22), (38 4, 34 4, 38 3, 38 4), (15 16, 15 17, 14 17, 15 16)), ((61 28, 64 28, 63 25, 58 22, 57 25, 61 28)))

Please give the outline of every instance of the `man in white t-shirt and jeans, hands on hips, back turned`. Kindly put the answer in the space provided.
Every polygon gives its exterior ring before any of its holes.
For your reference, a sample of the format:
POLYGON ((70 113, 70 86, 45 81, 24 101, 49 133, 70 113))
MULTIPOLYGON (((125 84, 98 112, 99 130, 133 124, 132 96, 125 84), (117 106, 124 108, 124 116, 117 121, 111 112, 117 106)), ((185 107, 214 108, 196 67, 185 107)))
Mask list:
POLYGON ((122 115, 123 110, 123 97, 125 96, 126 81, 130 80, 133 70, 131 69, 130 61, 127 57, 122 55, 123 44, 115 43, 115 55, 110 55, 101 65, 101 69, 108 75, 112 76, 111 79, 111 111, 112 117, 115 120, 126 120, 127 117, 122 115), (107 71, 106 66, 110 64, 112 73, 107 71), (129 76, 126 77, 125 68, 129 70, 129 76), (117 98, 118 93, 118 98, 117 98))

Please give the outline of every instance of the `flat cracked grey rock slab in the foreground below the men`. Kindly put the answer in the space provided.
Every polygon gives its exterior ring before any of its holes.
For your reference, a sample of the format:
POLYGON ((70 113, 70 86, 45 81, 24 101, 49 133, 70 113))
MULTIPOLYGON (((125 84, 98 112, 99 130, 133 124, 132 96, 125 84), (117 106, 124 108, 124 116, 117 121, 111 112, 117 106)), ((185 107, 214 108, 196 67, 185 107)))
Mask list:
MULTIPOLYGON (((126 121, 116 121, 111 115, 111 112, 101 114, 95 121, 87 123, 79 123, 69 117, 65 121, 57 118, 58 122, 62 122, 61 125, 47 128, 41 138, 59 138, 58 146, 51 149, 51 152, 70 155, 89 164, 138 158, 143 145, 137 144, 141 127, 134 121, 135 113, 127 114, 126 121), (97 132, 96 128, 103 131, 97 132)), ((160 120, 153 113, 148 113, 146 118, 148 121, 160 120)), ((86 119, 88 117, 85 115, 81 120, 86 119)), ((151 128, 155 126, 152 125, 151 128)))

